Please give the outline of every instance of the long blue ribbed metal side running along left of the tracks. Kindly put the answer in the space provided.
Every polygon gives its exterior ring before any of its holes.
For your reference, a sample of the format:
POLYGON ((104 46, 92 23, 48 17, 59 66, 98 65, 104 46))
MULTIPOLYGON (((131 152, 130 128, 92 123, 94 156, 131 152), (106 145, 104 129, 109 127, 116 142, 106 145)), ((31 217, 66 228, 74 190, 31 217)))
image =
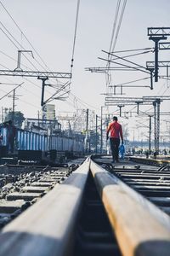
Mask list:
MULTIPOLYGON (((1 127, 1 138, 1 148, 7 148, 7 128, 5 127, 1 127)), ((83 137, 78 134, 74 137, 68 137, 62 133, 58 135, 42 135, 33 131, 17 129, 14 152, 37 154, 37 151, 42 153, 56 151, 60 154, 83 154, 83 137)))

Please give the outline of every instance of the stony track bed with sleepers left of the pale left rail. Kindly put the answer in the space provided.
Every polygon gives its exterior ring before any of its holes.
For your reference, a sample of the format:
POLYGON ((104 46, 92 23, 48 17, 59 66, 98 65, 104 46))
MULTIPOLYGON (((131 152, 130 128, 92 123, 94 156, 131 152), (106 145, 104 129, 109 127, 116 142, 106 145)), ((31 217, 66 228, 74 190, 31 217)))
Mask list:
POLYGON ((0 228, 46 195, 56 184, 63 183, 77 165, 0 166, 0 228))

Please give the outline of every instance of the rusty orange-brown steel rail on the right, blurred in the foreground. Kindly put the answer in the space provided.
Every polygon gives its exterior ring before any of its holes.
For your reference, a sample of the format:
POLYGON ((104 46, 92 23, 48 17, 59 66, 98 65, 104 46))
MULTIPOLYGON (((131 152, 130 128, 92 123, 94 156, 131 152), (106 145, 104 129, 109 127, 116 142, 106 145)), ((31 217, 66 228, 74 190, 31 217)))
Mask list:
POLYGON ((170 218, 143 196, 91 161, 91 172, 116 238, 126 256, 169 255, 170 218), (127 193, 129 191, 132 193, 127 193), (142 200, 141 200, 142 199, 142 200), (153 211, 152 211, 153 210, 153 211), (160 215, 153 215, 158 210, 160 215), (161 220, 161 216, 163 221, 161 220), (166 219, 165 219, 166 218, 166 219))

